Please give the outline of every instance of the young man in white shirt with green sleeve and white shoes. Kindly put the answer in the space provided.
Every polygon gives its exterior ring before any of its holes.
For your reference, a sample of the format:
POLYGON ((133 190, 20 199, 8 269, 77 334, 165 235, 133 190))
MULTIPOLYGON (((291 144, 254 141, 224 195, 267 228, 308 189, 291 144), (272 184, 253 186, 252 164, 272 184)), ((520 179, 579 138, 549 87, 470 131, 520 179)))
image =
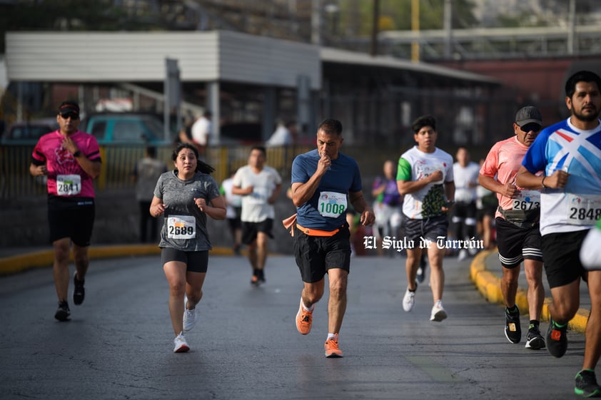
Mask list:
POLYGON ((435 146, 438 132, 433 116, 421 116, 412 125, 413 139, 418 145, 403 153, 398 160, 397 188, 404 195, 403 214, 405 214, 405 239, 413 242, 407 249, 408 286, 403 297, 403 309, 407 312, 415 305, 415 281, 420 257, 428 252, 430 261, 430 287, 434 306, 430 321, 440 322, 447 317, 443 308, 443 288, 445 273, 443 257, 445 248, 438 246, 440 237, 446 238, 448 230, 447 212, 455 198, 453 182, 453 157, 435 146), (422 238, 430 240, 423 246, 422 238))

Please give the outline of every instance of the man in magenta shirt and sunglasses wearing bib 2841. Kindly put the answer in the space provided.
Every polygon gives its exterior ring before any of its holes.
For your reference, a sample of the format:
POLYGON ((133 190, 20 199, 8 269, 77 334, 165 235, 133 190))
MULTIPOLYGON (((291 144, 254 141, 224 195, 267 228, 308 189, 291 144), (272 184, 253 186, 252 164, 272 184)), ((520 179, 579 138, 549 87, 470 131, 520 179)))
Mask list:
POLYGON ((56 116, 59 130, 43 135, 31 154, 29 173, 48 178, 48 220, 54 247, 54 286, 59 308, 54 318, 68 321, 71 316, 69 291, 69 252, 73 242, 76 272, 73 302, 84 302, 84 278, 88 270, 88 248, 94 227, 94 182, 100 175, 101 158, 94 136, 79 128, 79 106, 65 101, 56 116))

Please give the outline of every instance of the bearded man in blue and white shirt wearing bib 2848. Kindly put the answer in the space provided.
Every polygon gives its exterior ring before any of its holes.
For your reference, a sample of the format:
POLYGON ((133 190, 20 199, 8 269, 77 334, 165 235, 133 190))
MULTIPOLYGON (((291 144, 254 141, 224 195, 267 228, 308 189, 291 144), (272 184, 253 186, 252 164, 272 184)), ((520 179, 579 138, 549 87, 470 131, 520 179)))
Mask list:
POLYGON ((601 397, 595 366, 601 355, 601 271, 587 271, 580 247, 601 216, 601 78, 580 71, 565 83, 571 116, 544 130, 527 151, 517 185, 542 188, 540 234, 542 258, 551 288, 547 349, 562 357, 567 349, 567 323, 580 307, 580 278, 587 281, 591 309, 585 357, 575 378, 575 393, 601 397), (544 174, 536 176, 537 171, 544 174))

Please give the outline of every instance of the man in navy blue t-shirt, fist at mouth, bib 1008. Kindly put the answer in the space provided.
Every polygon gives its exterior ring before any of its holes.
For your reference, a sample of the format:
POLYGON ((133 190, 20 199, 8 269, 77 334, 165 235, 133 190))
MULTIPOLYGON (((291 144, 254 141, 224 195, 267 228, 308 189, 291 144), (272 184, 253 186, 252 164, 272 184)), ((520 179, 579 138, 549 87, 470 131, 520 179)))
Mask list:
POLYGON ((317 149, 298 155, 292 164, 292 201, 297 207, 292 227, 294 255, 303 279, 296 328, 308 334, 313 307, 323 296, 325 274, 330 282, 328 339, 325 357, 342 357, 338 332, 346 310, 346 286, 350 267, 350 232, 346 222, 348 203, 360 213, 360 223, 375 220, 361 192, 359 167, 340 153, 342 124, 326 119, 318 126, 317 149))

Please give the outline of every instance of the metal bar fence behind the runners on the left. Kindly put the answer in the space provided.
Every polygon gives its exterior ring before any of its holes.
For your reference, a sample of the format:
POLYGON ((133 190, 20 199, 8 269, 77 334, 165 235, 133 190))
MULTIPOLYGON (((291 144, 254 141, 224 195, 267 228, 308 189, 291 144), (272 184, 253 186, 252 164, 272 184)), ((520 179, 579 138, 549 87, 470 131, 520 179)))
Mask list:
MULTIPOLYGON (((293 158, 310 150, 309 146, 291 146, 267 149, 267 163, 282 176, 290 174, 293 158)), ((29 174, 31 145, 0 146, 0 199, 23 198, 46 193, 45 177, 29 174)), ((102 170, 96 180, 96 190, 129 188, 133 185, 131 173, 136 162, 143 158, 143 146, 101 146, 102 170)), ((213 178, 221 183, 232 171, 248 163, 251 146, 209 148, 205 162, 216 169, 213 178)), ((173 168, 173 147, 157 148, 157 158, 173 168)))

